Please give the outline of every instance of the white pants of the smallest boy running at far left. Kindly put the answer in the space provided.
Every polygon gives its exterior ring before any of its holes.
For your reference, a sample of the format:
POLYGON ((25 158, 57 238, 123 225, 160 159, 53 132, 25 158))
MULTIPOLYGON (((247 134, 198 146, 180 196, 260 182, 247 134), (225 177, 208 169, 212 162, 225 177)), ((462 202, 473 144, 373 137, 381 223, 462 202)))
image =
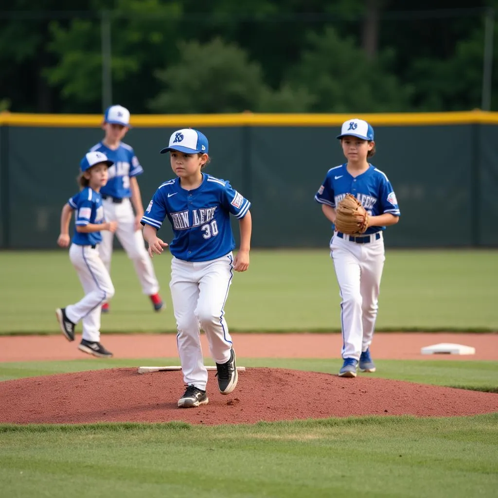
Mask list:
POLYGON ((101 306, 114 296, 113 282, 98 248, 72 244, 69 258, 76 268, 85 297, 76 304, 66 306, 66 316, 73 323, 83 321, 83 339, 99 342, 101 306))

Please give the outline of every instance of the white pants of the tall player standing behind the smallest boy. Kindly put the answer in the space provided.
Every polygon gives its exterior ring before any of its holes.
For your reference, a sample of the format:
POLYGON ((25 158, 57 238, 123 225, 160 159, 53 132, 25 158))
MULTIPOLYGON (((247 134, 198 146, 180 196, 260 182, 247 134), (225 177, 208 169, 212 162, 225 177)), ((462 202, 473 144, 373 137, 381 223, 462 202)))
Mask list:
MULTIPOLYGON (((151 296, 159 292, 159 283, 155 276, 154 267, 145 249, 145 242, 141 230, 134 229, 135 215, 129 199, 123 199, 121 204, 113 203, 111 198, 103 199, 104 215, 106 221, 117 221, 118 229, 116 236, 120 241, 126 254, 133 262, 135 272, 140 280, 142 292, 151 296)), ((106 265, 107 271, 111 273, 111 256, 113 253, 114 234, 109 231, 102 232, 102 244, 100 254, 106 265)))

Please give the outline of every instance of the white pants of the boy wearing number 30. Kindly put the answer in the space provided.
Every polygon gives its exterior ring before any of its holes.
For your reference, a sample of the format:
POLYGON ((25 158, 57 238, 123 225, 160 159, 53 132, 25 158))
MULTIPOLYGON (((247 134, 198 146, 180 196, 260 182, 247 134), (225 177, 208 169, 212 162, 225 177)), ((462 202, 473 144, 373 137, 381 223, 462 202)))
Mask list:
POLYGON ((171 298, 178 334, 176 342, 183 380, 206 390, 200 329, 204 330, 216 363, 230 360, 232 338, 225 320, 225 302, 233 277, 233 254, 211 261, 171 261, 171 298))

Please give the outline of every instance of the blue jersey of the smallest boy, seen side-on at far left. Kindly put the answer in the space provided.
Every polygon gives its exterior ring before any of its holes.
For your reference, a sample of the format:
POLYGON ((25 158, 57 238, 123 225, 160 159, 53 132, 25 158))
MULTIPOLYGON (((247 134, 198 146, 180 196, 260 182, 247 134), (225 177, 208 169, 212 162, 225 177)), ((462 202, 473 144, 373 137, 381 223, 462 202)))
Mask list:
MULTIPOLYGON (((73 195, 67 202, 76 211, 76 226, 84 227, 89 223, 95 225, 104 223, 102 196, 90 187, 85 187, 82 191, 73 195)), ((77 244, 78 246, 93 246, 100 242, 102 242, 100 232, 83 234, 77 232, 75 227, 73 244, 77 244)))

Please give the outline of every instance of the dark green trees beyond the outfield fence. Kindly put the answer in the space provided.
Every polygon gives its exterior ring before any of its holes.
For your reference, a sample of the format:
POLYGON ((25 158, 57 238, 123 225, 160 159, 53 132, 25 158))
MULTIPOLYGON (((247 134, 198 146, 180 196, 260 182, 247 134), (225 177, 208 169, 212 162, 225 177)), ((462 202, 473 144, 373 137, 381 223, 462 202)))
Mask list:
POLYGON ((108 103, 135 114, 476 109, 486 33, 490 109, 497 110, 498 0, 443 4, 11 0, 0 11, 0 110, 100 113, 108 103))

